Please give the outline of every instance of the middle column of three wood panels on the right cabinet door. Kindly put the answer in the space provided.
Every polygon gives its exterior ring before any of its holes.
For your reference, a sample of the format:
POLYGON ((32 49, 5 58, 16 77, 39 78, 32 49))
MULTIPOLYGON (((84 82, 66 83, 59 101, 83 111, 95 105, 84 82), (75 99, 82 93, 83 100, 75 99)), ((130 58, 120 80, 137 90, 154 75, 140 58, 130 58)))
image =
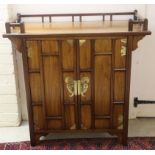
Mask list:
POLYGON ((111 122, 112 39, 95 40, 95 128, 109 129, 111 122))

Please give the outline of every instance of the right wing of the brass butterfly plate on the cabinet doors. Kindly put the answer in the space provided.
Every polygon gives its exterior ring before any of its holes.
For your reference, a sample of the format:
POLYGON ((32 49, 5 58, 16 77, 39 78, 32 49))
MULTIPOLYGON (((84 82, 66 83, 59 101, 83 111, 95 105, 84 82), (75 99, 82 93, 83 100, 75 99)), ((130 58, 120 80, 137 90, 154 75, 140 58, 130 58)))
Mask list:
POLYGON ((81 96, 85 96, 85 93, 88 90, 89 87, 89 78, 88 77, 82 77, 81 81, 80 81, 80 94, 81 96))

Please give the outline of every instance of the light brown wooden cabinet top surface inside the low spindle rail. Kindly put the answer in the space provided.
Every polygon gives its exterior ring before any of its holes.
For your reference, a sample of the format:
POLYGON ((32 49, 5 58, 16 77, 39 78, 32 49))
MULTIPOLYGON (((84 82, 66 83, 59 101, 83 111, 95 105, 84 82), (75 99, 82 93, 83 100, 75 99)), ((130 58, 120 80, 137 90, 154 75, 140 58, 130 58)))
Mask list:
MULTIPOLYGON (((83 34, 128 32, 128 21, 87 21, 87 22, 52 22, 24 23, 26 34, 83 34)), ((12 32, 17 33, 18 28, 12 32)), ((141 32, 141 26, 135 25, 132 32, 141 32)))

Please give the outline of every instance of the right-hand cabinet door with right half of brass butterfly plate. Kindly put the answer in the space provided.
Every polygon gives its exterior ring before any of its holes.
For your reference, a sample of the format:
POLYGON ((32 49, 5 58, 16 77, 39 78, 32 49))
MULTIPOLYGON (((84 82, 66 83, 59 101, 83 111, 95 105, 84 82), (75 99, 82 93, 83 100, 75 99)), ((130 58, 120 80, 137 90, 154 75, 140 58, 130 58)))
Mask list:
POLYGON ((79 40, 81 129, 122 129, 126 39, 79 40))

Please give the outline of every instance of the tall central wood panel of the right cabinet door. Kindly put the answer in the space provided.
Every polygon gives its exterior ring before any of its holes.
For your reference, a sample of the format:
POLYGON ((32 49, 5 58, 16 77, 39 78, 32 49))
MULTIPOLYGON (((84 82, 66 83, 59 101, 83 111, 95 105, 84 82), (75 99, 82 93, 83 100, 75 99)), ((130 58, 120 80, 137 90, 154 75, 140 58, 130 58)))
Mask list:
POLYGON ((95 57, 95 115, 110 115, 111 57, 95 57))

